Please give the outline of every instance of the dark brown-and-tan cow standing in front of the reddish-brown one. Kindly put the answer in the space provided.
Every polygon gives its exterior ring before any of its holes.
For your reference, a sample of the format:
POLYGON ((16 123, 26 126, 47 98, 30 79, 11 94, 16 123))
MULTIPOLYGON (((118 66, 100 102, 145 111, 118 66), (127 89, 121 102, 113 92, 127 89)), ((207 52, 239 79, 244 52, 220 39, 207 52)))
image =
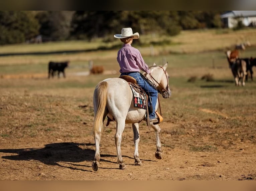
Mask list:
POLYGON ((241 59, 231 59, 230 54, 231 51, 227 51, 227 59, 229 62, 229 65, 231 67, 232 74, 235 78, 235 84, 236 86, 241 85, 241 80, 242 80, 242 86, 245 86, 245 76, 247 74, 246 72, 246 62, 241 59))

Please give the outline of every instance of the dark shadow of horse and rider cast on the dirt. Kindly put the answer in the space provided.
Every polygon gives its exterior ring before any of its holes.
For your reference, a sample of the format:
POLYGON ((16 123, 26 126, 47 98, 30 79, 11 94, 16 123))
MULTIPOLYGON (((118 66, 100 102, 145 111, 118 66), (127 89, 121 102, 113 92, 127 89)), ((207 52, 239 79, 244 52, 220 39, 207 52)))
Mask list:
MULTIPOLYGON (((61 142, 46 144, 43 148, 20 148, 20 149, 0 149, 3 153, 14 153, 15 155, 2 156, 3 159, 8 160, 34 160, 42 162, 46 165, 57 165, 60 167, 70 168, 72 170, 85 170, 81 167, 90 167, 91 165, 74 164, 78 162, 92 162, 94 159, 95 150, 91 148, 83 149, 80 146, 95 146, 93 143, 75 143, 75 142, 61 142), (72 164, 72 166, 63 166, 60 163, 72 164), (80 168, 79 168, 80 167, 80 168)), ((101 154, 101 162, 116 163, 108 160, 108 157, 116 157, 116 155, 101 154)), ((129 156, 123 156, 132 158, 129 156)))

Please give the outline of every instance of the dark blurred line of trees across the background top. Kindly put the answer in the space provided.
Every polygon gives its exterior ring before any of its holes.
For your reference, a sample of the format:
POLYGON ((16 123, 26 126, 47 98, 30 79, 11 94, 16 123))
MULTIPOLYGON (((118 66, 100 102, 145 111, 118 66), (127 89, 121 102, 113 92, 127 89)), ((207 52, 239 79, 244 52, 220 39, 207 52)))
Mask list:
POLYGON ((0 11, 0 44, 107 38, 132 27, 140 34, 221 28, 223 11, 0 11))

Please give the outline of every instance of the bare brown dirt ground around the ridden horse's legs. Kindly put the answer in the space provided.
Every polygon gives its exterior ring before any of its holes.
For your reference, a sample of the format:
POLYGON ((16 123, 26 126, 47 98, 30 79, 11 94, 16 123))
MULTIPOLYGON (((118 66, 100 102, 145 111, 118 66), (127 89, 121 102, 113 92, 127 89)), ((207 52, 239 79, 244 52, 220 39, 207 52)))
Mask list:
MULTIPOLYGON (((160 124, 161 160, 154 156, 155 133, 142 122, 139 144, 142 166, 134 165, 133 132, 127 124, 121 145, 127 164, 124 170, 118 169, 115 122, 111 122, 102 133, 100 168, 94 172, 93 106, 89 98, 82 99, 91 95, 94 88, 44 92, 22 88, 24 84, 29 86, 27 79, 9 83, 21 87, 2 88, 0 93, 1 180, 256 179, 255 124, 234 128, 226 125, 232 119, 221 115, 190 120, 173 118, 175 114, 164 115, 160 124)), ((34 83, 44 86, 48 81, 34 83)))

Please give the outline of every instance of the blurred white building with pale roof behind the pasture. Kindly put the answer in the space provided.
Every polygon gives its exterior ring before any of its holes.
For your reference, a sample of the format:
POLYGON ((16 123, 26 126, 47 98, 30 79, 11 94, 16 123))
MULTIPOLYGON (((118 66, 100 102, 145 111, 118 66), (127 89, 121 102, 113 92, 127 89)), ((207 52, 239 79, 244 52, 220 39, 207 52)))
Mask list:
POLYGON ((221 15, 224 26, 228 28, 237 26, 237 17, 241 18, 245 26, 256 26, 256 11, 228 11, 221 15))

